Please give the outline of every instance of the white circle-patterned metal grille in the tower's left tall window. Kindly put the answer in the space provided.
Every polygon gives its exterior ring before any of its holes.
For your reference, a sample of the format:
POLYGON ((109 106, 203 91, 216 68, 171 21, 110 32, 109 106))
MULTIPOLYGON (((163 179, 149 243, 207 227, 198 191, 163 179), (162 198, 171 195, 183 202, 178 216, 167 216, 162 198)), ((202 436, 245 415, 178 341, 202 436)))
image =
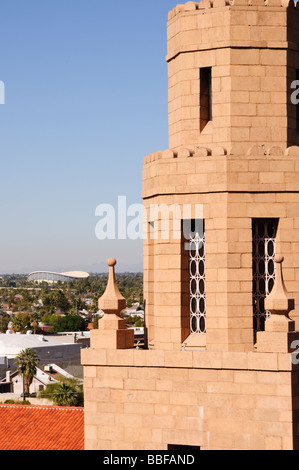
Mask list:
POLYGON ((195 228, 189 238, 190 331, 206 332, 205 231, 195 228))

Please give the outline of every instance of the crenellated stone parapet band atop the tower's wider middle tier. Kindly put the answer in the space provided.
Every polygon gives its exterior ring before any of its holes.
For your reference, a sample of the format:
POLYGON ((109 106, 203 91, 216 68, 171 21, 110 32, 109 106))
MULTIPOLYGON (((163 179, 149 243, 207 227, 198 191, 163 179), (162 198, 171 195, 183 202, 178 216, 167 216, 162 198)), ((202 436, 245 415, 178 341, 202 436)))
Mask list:
POLYGON ((253 145, 240 155, 224 147, 167 149, 147 155, 143 198, 213 192, 299 192, 299 147, 253 145))

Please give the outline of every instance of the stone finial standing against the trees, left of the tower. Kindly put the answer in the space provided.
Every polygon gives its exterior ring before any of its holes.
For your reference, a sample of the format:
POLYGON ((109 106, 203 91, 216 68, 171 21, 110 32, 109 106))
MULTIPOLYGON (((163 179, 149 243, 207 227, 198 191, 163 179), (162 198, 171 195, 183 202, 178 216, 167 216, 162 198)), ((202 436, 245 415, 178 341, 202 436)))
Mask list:
POLYGON ((126 299, 121 295, 117 287, 114 271, 116 260, 109 258, 107 264, 109 266, 108 283, 104 294, 99 298, 98 307, 106 314, 119 315, 126 308, 126 299))

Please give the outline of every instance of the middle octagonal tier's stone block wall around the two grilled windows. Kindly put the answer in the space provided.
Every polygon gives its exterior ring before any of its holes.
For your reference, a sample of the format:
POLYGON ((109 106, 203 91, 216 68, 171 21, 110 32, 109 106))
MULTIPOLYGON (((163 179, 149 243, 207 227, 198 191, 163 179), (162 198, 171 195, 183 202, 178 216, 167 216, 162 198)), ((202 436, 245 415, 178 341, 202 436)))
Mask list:
MULTIPOLYGON (((287 289, 299 311, 299 148, 253 146, 247 155, 224 148, 166 150, 145 158, 143 199, 151 206, 202 207, 206 224, 207 334, 202 346, 213 350, 254 348, 252 327, 252 219, 278 218, 277 253, 285 257, 287 289)), ((167 215, 167 212, 166 212, 167 215)), ((191 214, 194 217, 194 214, 191 214)), ((144 297, 149 340, 158 349, 180 350, 187 336, 182 306, 182 248, 163 238, 163 213, 149 222, 144 251, 144 297)), ((180 226, 176 226, 180 230, 180 226)), ((172 220, 170 229, 173 228, 172 220)), ((188 304, 188 299, 187 299, 188 304)), ((185 302, 185 303, 186 303, 185 302)))

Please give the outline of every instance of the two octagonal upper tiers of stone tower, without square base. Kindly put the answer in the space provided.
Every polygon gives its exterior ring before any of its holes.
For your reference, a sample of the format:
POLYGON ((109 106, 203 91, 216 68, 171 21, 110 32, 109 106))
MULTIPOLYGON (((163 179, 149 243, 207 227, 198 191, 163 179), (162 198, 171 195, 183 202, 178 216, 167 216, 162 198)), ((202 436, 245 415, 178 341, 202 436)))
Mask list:
POLYGON ((154 347, 253 350, 277 252, 299 301, 298 44, 293 2, 202 0, 169 13, 170 149, 147 156, 143 173, 154 347), (176 224, 167 240, 162 206, 176 224), (202 225, 188 254, 174 236, 184 206, 202 225))

